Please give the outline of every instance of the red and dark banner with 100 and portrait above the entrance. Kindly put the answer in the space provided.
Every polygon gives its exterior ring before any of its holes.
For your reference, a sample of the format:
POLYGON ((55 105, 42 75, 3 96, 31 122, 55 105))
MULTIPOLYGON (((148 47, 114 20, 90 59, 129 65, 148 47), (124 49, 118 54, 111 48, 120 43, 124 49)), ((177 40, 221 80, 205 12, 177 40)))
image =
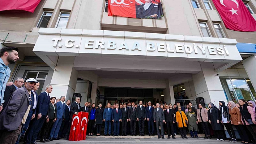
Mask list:
POLYGON ((109 0, 108 16, 131 18, 163 17, 161 0, 109 0))

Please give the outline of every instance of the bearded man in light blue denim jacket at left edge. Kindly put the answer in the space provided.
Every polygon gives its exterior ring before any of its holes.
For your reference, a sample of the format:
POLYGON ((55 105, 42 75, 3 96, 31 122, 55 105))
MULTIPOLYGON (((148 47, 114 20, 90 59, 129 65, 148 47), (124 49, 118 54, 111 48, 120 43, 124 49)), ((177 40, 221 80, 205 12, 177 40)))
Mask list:
POLYGON ((3 109, 2 103, 4 103, 4 91, 6 83, 10 77, 9 64, 15 64, 19 59, 18 48, 16 47, 3 47, 0 50, 0 112, 3 109))

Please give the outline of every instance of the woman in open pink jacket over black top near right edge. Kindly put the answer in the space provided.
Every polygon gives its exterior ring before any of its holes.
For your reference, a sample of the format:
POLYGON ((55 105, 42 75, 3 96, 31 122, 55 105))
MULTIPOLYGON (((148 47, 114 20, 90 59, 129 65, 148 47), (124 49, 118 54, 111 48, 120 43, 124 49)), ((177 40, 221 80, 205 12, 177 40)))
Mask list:
POLYGON ((247 127, 247 129, 251 132, 253 136, 253 142, 256 141, 256 121, 255 114, 252 110, 252 107, 249 106, 244 99, 239 100, 240 113, 242 116, 242 123, 247 127))

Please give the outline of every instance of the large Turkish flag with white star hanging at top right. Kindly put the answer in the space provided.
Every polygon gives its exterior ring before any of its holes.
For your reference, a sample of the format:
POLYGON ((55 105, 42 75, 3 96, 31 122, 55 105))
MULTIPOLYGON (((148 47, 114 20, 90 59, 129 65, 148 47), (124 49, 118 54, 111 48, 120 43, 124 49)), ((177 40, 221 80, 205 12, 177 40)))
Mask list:
POLYGON ((256 31, 256 21, 242 0, 213 0, 227 29, 256 31))

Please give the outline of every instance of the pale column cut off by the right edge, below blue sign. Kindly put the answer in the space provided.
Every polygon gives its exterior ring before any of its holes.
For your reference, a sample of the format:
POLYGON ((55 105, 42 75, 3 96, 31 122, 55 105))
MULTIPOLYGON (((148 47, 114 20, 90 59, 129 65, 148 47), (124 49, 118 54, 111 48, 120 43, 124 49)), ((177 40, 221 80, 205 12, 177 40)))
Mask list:
POLYGON ((246 73, 251 80, 252 86, 254 90, 256 90, 256 55, 252 55, 245 60, 242 61, 244 65, 244 69, 246 70, 246 73))

